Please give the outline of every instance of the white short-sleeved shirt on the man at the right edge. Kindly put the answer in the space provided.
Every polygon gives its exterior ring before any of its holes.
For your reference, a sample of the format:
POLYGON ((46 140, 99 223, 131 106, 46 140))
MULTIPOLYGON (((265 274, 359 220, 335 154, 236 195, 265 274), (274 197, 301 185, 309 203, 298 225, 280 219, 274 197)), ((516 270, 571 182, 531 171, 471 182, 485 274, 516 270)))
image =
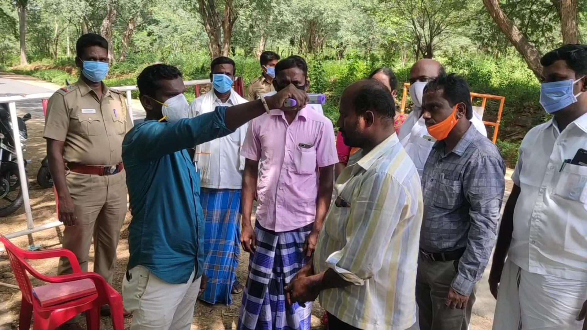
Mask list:
POLYGON ((587 281, 587 166, 565 164, 587 149, 587 114, 559 132, 531 129, 512 180, 521 188, 509 256, 528 272, 587 281))

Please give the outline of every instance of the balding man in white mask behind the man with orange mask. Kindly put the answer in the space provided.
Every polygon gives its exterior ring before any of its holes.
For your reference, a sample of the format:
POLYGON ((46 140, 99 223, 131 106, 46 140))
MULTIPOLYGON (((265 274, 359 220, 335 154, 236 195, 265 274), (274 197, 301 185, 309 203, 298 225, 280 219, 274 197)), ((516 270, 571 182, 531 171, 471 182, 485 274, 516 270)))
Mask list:
MULTIPOLYGON (((432 150, 436 142, 436 139, 428 134, 426 124, 422 118, 423 90, 430 80, 445 74, 446 72, 440 62, 433 59, 418 60, 410 70, 410 97, 414 102, 414 108, 400 128, 399 139, 414 165, 416 165, 420 177, 430 150, 432 150)), ((473 113, 471 123, 483 136, 487 136, 485 124, 476 113, 473 113)))

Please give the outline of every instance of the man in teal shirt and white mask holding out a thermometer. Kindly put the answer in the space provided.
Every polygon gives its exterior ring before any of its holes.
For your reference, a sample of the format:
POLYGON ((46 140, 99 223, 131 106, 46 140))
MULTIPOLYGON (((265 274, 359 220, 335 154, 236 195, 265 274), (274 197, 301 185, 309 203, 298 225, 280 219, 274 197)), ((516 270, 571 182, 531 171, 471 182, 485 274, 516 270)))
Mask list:
POLYGON ((269 109, 303 109, 305 92, 294 85, 264 100, 186 117, 181 72, 151 65, 137 78, 147 117, 124 137, 130 208, 129 264, 123 281, 124 306, 133 312, 131 329, 190 329, 203 274, 204 216, 200 176, 187 149, 226 136, 269 109), (287 98, 298 106, 284 108, 287 98), (178 115, 180 114, 180 115, 178 115))

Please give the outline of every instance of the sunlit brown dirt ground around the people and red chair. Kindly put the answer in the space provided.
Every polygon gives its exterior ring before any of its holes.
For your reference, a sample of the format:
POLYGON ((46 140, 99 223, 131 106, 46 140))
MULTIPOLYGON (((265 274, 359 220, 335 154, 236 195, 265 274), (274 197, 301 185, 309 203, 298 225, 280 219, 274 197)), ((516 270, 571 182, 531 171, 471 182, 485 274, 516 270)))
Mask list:
MULTIPOLYGON (((31 159, 28 166, 29 187, 31 194, 31 206, 35 225, 50 223, 56 220, 55 200, 52 189, 42 189, 36 184, 36 173, 41 165, 41 160, 45 157, 45 142, 42 139, 43 119, 33 116, 29 122, 29 140, 28 152, 25 155, 31 159)), ((508 171, 511 174, 511 170, 508 171)), ((509 177, 509 175, 508 175, 509 177)), ((508 181, 508 191, 511 190, 511 181, 508 181)), ((129 258, 128 248, 128 225, 130 223, 130 213, 127 214, 126 220, 121 232, 120 244, 118 247, 118 261, 114 275, 114 288, 120 291, 123 274, 126 270, 126 264, 129 258)), ((62 228, 62 227, 61 227, 62 228)), ((12 241, 21 248, 27 248, 30 245, 40 247, 42 250, 60 247, 61 228, 53 228, 41 231, 32 235, 14 238, 12 241)), ((26 217, 21 207, 15 214, 0 218, 0 233, 8 234, 15 231, 26 229, 26 217)), ((56 275, 58 260, 32 261, 31 264, 36 270, 43 274, 56 275)), ((241 254, 241 265, 238 269, 237 276, 241 283, 246 282, 247 278, 248 254, 241 254)), ((93 268, 93 250, 90 250, 90 270, 93 268)), ((0 282, 16 285, 16 280, 12 274, 8 257, 5 252, 0 252, 0 282)), ((43 283, 33 280, 33 285, 42 285, 43 283)), ((487 271, 484 278, 480 281, 477 290, 477 302, 473 311, 471 329, 486 330, 491 329, 493 320, 493 311, 495 302, 488 293, 487 271)), ((234 304, 231 306, 208 305, 198 302, 195 309, 192 329, 236 329, 238 321, 239 308, 241 305, 242 295, 234 297, 234 304)), ((18 328, 18 316, 21 304, 21 294, 18 289, 6 288, 0 286, 0 330, 18 328)), ((314 304, 312 316, 312 329, 322 329, 320 318, 323 309, 318 303, 314 304)), ((127 327, 130 325, 130 319, 126 319, 127 327)), ((112 324, 107 318, 102 319, 104 329, 112 329, 112 324)))

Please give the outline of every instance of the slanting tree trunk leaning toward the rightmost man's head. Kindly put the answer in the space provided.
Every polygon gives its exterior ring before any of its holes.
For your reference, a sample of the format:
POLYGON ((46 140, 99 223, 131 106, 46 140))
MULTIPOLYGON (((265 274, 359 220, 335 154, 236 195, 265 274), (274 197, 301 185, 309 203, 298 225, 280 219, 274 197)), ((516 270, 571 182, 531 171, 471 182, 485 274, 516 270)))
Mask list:
POLYGON ((498 0, 483 0, 483 4, 497 26, 499 26, 501 32, 507 36, 515 49, 524 57, 528 68, 540 79, 542 74, 542 65, 540 64, 542 54, 540 51, 528 41, 524 34, 519 31, 518 27, 505 15, 498 0))

